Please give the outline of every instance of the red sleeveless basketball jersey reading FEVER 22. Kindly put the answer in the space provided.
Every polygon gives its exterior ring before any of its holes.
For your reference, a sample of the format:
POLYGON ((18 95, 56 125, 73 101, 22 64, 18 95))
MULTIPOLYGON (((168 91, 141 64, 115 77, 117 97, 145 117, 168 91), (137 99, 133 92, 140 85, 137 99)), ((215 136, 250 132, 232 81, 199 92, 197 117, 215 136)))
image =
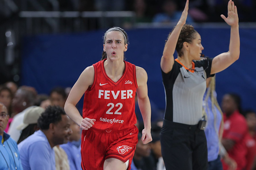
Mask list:
POLYGON ((93 64, 94 81, 84 94, 83 118, 96 119, 92 128, 99 130, 130 128, 137 121, 135 65, 124 61, 124 74, 115 83, 107 76, 104 61, 93 64))

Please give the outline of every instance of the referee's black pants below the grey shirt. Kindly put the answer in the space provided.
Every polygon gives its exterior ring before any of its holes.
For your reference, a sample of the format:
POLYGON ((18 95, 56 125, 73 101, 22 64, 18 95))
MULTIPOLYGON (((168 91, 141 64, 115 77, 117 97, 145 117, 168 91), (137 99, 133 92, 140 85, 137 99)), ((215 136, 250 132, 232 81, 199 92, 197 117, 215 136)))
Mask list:
POLYGON ((166 170, 207 170, 207 143, 204 130, 164 120, 160 133, 166 170))

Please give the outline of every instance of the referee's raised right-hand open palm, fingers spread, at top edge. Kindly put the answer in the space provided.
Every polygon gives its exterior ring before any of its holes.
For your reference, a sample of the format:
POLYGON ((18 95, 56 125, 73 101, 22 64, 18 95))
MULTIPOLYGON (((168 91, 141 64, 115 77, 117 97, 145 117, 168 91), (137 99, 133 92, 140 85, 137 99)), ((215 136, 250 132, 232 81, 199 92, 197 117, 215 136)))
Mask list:
POLYGON ((238 26, 238 14, 236 5, 232 0, 228 1, 228 18, 226 18, 223 14, 220 15, 224 21, 230 26, 238 26))

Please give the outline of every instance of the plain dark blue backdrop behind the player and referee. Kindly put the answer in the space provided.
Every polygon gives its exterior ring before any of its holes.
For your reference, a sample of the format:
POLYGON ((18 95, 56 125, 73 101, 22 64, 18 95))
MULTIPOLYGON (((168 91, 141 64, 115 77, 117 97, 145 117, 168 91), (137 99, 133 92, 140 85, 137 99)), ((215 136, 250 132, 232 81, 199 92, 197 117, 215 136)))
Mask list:
MULTIPOLYGON (((148 73, 148 95, 159 109, 165 108, 160 59, 171 29, 128 30, 130 44, 126 61, 143 67, 148 73)), ((202 37, 203 53, 214 57, 228 51, 230 28, 197 28, 202 37)), ((21 85, 34 86, 48 94, 55 86, 72 87, 81 72, 101 59, 105 30, 26 37, 22 48, 21 85)), ((217 74, 218 101, 228 92, 238 93, 242 108, 256 110, 255 40, 256 29, 240 28, 240 58, 217 74)), ((174 55, 175 58, 177 55, 174 55)))

